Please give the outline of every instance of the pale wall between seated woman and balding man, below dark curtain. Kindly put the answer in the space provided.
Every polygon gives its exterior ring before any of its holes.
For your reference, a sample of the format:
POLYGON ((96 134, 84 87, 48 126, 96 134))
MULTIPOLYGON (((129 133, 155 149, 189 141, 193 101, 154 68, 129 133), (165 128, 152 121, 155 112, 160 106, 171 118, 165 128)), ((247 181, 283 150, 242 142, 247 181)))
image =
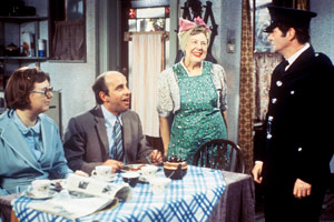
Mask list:
POLYGON ((47 61, 41 69, 50 74, 51 85, 61 90, 62 129, 69 119, 80 112, 92 108, 95 103, 91 85, 97 74, 96 50, 96 2, 86 0, 86 33, 87 33, 87 62, 69 63, 47 61))

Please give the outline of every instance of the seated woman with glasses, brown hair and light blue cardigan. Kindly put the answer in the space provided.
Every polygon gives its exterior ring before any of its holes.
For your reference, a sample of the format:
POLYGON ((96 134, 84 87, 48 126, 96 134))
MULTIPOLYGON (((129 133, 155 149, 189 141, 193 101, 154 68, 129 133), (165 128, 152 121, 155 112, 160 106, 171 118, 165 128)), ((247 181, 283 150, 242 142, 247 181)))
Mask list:
POLYGON ((7 83, 0 115, 0 195, 22 192, 36 179, 63 179, 67 167, 58 127, 46 112, 53 97, 50 78, 20 68, 7 83))

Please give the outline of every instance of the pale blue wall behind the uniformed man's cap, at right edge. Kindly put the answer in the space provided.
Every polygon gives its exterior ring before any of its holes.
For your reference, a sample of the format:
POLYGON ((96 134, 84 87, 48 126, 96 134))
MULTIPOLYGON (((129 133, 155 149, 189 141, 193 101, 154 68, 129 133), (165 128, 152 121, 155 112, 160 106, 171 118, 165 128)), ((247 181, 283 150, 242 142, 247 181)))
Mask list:
POLYGON ((334 61, 334 1, 311 0, 311 10, 317 17, 311 20, 311 41, 317 52, 327 54, 334 61))

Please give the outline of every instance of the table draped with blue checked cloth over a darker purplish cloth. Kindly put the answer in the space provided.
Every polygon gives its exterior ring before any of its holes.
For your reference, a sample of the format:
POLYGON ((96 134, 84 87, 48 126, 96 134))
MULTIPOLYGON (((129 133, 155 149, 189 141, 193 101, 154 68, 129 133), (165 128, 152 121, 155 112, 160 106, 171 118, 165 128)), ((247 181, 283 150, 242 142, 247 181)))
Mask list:
MULTIPOLYGON (((116 182, 121 182, 120 176, 116 182)), ((249 175, 189 165, 184 180, 173 181, 166 194, 154 195, 148 184, 137 184, 131 201, 77 221, 254 222, 254 183, 249 175)), ((21 222, 68 221, 27 208, 31 201, 35 200, 19 196, 12 202, 21 222)))

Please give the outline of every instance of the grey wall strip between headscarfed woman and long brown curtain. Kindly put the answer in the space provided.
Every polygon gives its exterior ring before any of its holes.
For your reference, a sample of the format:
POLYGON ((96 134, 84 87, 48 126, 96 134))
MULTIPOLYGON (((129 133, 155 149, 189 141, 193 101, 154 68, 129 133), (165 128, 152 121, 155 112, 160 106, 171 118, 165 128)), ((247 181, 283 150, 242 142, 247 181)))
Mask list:
MULTIPOLYGON (((179 7, 184 7, 186 0, 180 0, 179 7)), ((240 72, 240 30, 242 30, 242 0, 212 0, 213 13, 218 24, 218 34, 213 46, 213 56, 218 64, 223 65, 227 79, 227 115, 228 139, 237 142, 238 138, 238 111, 239 111, 239 72, 240 72), (234 30, 236 48, 234 53, 226 52, 227 30, 234 30)), ((206 0, 202 0, 206 6, 206 0)), ((205 8, 203 9, 203 16, 205 8)), ((179 10, 181 17, 183 10, 179 10)), ((208 26, 210 23, 208 22, 208 26)))

